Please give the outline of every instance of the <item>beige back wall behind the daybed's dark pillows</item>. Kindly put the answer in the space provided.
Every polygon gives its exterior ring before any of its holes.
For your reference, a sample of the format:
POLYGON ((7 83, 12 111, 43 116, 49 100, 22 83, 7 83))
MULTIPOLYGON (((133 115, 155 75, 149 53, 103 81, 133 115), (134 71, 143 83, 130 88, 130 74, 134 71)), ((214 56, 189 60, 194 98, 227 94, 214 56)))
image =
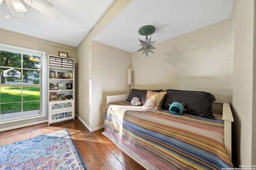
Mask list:
MULTIPOLYGON (((152 35, 152 41, 154 34, 152 35)), ((206 91, 231 102, 232 21, 154 45, 148 58, 132 53, 134 88, 206 91)))

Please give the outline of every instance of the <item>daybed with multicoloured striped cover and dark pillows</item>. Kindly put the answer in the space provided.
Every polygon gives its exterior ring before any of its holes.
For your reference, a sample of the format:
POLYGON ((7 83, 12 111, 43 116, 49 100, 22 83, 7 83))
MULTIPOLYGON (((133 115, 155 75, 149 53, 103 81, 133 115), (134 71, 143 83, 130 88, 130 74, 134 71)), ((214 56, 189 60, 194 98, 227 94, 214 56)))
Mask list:
POLYGON ((149 170, 232 168, 232 112, 228 102, 214 100, 207 92, 182 90, 132 89, 107 96, 103 134, 149 170), (142 105, 132 106, 133 97, 142 105), (170 113, 174 99, 188 111, 170 113))

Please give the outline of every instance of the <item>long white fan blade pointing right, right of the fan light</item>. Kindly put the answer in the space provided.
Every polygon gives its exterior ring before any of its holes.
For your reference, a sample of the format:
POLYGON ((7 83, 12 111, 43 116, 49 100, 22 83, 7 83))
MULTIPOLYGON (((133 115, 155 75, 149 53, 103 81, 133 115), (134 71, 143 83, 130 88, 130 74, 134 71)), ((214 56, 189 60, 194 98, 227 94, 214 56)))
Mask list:
POLYGON ((53 12, 52 10, 47 8, 46 6, 40 4, 39 2, 36 2, 35 0, 24 0, 24 2, 26 2, 28 5, 32 6, 36 10, 42 12, 43 14, 49 16, 50 18, 52 18, 56 21, 60 20, 60 15, 59 14, 57 14, 56 12, 53 12))

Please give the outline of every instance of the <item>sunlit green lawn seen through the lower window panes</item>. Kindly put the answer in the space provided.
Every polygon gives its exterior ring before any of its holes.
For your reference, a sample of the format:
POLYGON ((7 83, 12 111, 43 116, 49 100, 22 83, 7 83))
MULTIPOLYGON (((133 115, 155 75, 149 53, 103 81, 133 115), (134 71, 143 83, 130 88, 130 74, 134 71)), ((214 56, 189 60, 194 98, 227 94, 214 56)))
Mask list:
POLYGON ((22 110, 21 100, 23 111, 40 109, 40 87, 0 87, 1 114, 20 112, 22 110))

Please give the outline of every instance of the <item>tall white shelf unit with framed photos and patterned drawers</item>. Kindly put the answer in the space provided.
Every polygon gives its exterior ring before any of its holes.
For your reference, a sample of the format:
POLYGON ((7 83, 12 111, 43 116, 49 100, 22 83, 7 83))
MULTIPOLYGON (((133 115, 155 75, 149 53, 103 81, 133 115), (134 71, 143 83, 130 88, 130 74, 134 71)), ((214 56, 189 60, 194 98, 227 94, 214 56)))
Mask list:
POLYGON ((48 124, 50 125, 52 123, 74 119, 75 67, 74 59, 54 55, 49 55, 48 66, 48 124), (53 84, 56 90, 52 89, 53 86, 51 84, 53 84), (63 89, 59 88, 61 84, 64 84, 64 86, 61 86, 63 89), (69 87, 69 89, 65 90, 65 87, 66 89, 69 87), (65 97, 71 96, 72 98, 70 100, 61 100, 61 94, 65 97))

